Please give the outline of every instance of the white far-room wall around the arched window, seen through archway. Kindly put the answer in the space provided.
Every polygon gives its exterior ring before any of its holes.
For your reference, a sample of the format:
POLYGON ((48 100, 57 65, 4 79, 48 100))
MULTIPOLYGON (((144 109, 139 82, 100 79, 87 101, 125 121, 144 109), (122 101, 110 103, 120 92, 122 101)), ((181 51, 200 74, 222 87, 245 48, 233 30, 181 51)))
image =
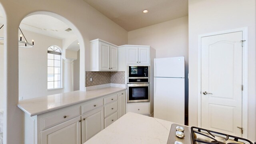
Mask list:
POLYGON ((47 90, 47 48, 51 45, 62 48, 62 40, 27 30, 22 32, 28 42, 34 39, 34 47, 18 48, 20 100, 64 92, 63 89, 47 90))

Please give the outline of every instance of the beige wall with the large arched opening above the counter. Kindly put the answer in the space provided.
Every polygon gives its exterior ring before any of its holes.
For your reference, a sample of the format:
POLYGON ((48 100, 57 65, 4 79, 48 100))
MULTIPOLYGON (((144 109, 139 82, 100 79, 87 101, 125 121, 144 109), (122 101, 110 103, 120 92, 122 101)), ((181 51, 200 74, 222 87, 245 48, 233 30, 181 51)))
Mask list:
POLYGON ((18 26, 31 14, 48 14, 65 22, 80 43, 80 90, 85 88, 85 71, 90 68, 89 41, 100 38, 116 45, 127 44, 128 32, 83 0, 0 0, 4 15, 4 141, 23 141, 23 112, 18 103, 18 26), (3 10, 4 9, 4 10, 3 10), (42 12, 44 11, 44 12, 42 12))

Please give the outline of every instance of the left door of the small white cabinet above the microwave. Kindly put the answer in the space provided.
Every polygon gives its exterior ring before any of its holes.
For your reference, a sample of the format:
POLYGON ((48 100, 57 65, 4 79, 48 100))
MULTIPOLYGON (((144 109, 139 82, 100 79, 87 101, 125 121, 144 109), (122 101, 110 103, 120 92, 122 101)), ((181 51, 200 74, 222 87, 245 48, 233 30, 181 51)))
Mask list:
POLYGON ((137 47, 128 47, 126 49, 126 64, 138 64, 137 47))

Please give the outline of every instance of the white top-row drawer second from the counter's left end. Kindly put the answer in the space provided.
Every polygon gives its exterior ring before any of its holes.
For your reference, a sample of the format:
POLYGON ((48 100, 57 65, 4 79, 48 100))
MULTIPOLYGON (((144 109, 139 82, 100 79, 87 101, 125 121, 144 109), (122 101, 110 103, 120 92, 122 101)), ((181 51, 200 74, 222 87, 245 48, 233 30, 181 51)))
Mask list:
POLYGON ((92 102, 82 105, 82 114, 86 114, 87 112, 90 112, 102 106, 103 106, 103 98, 94 100, 92 102))

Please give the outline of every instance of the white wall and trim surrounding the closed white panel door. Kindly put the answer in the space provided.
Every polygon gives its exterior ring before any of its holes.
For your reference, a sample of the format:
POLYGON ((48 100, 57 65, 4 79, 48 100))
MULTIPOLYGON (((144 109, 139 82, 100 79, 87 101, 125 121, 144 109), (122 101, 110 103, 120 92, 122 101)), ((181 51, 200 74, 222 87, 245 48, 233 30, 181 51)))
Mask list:
POLYGON ((188 0, 190 126, 197 126, 198 35, 248 27, 248 138, 256 141, 255 12, 255 0, 188 0))

